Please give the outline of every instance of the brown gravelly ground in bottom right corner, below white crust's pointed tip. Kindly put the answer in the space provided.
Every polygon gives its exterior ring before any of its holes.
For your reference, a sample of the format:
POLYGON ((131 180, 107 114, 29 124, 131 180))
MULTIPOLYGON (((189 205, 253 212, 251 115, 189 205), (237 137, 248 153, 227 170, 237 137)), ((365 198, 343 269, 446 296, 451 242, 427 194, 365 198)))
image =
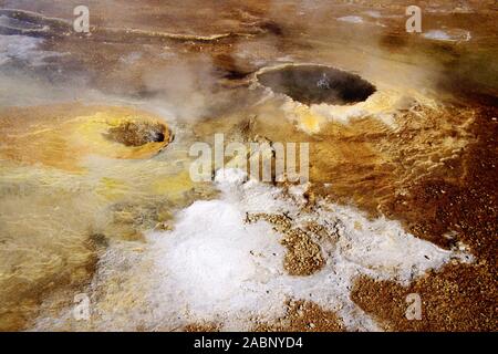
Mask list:
POLYGON ((488 266, 447 266, 407 288, 362 277, 351 298, 387 331, 496 331, 498 296, 491 274, 488 266), (421 296, 421 321, 405 316, 409 293, 421 296))

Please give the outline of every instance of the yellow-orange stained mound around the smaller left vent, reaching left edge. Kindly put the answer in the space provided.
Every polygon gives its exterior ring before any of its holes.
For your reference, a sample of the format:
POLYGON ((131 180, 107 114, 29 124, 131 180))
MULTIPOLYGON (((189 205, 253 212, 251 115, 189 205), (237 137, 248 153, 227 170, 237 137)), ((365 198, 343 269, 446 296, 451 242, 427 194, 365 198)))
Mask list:
POLYGON ((81 162, 89 155, 147 158, 170 142, 169 129, 158 117, 123 107, 2 108, 0 126, 1 157, 73 171, 83 169, 81 162))

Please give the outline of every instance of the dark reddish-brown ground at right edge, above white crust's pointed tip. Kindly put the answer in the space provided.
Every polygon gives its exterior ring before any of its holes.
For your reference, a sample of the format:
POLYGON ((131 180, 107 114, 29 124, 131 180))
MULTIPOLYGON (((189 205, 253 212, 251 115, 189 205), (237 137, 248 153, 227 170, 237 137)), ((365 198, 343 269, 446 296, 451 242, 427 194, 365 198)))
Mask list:
POLYGON ((448 174, 421 180, 408 194, 386 204, 387 211, 423 239, 442 246, 461 240, 477 257, 492 262, 498 235, 497 119, 498 108, 478 112, 470 128, 478 140, 448 165, 459 171, 458 179, 448 174), (458 236, 448 240, 444 235, 449 231, 458 236))

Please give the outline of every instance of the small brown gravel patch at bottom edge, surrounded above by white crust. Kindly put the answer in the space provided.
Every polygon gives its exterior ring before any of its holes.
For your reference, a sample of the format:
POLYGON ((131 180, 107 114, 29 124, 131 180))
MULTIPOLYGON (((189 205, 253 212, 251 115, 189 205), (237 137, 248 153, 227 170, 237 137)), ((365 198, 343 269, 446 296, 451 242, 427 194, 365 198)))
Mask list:
POLYGON ((260 323, 255 332, 343 332, 344 324, 333 311, 323 310, 313 302, 292 300, 287 313, 272 323, 260 323))

